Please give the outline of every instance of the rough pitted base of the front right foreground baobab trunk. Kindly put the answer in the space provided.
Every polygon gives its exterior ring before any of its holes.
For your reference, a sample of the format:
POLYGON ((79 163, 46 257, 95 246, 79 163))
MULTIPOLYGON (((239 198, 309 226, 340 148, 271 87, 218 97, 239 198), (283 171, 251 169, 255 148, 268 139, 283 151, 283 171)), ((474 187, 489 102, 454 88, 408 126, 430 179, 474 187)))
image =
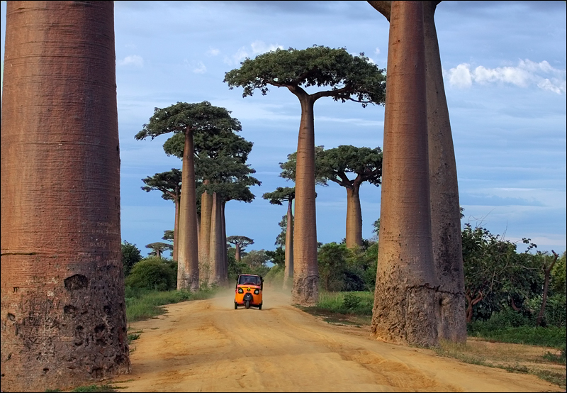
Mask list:
POLYGON ((390 343, 437 346, 436 301, 434 288, 386 287, 377 283, 371 336, 390 343))

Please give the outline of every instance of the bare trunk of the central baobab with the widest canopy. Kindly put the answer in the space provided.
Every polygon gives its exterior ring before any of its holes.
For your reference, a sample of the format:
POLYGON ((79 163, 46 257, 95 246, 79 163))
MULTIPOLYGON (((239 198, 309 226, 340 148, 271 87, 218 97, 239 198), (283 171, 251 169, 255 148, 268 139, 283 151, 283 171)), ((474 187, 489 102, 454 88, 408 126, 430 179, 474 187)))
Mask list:
POLYGON ((307 94, 296 95, 301 103, 297 143, 296 215, 293 228, 293 303, 310 306, 319 301, 317 225, 315 218, 315 123, 313 104, 307 94))

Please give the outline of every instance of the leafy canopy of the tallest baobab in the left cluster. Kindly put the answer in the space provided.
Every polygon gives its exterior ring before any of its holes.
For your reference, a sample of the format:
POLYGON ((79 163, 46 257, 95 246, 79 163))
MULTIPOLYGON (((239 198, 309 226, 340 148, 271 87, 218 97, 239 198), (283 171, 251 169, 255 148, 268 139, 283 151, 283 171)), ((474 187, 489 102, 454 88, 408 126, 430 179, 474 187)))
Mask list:
POLYGON ((230 116, 230 111, 220 106, 213 106, 208 101, 197 104, 178 102, 167 108, 155 108, 150 122, 144 124, 135 139, 152 139, 164 133, 217 133, 219 131, 240 131, 240 121, 230 116))

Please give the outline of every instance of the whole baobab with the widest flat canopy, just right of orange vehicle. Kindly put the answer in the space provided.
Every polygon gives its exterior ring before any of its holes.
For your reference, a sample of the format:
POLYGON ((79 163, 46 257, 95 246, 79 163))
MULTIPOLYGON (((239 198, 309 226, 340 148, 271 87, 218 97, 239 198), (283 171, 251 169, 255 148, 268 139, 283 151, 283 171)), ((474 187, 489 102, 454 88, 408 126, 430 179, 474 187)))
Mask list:
POLYGON ((268 85, 286 87, 301 105, 296 172, 296 221, 293 233, 292 301, 313 305, 318 302, 317 222, 315 219, 315 123, 313 106, 321 97, 335 101, 383 104, 386 89, 383 70, 369 58, 350 55, 345 48, 313 45, 296 50, 277 49, 247 58, 240 68, 225 73, 229 89, 243 87, 243 97, 268 85), (305 89, 330 87, 309 94, 305 89))

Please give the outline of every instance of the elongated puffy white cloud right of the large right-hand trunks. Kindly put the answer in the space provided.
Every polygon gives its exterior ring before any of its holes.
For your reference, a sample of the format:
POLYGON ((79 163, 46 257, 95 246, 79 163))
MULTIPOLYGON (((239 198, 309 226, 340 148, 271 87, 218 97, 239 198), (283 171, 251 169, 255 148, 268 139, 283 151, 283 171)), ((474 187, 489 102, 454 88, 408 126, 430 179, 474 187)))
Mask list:
POLYGON ((566 70, 558 70, 545 60, 532 62, 520 60, 516 67, 486 68, 479 65, 471 70, 471 65, 462 63, 448 72, 449 84, 454 87, 471 87, 478 84, 506 83, 517 87, 537 86, 556 94, 566 92, 566 70))

